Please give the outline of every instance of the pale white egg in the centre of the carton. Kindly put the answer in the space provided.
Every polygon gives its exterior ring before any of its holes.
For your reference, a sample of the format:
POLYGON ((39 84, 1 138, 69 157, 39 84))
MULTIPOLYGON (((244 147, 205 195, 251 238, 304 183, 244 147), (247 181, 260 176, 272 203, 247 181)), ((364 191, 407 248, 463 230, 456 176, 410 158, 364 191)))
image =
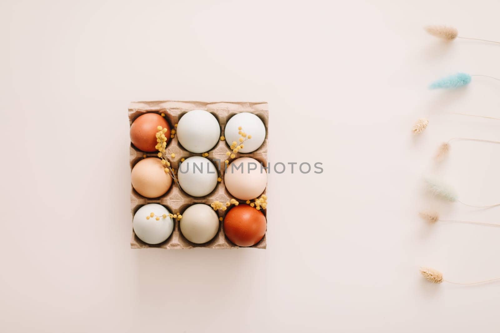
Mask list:
POLYGON ((217 186, 217 169, 201 156, 191 156, 180 163, 177 180, 184 192, 193 197, 209 194, 217 186))

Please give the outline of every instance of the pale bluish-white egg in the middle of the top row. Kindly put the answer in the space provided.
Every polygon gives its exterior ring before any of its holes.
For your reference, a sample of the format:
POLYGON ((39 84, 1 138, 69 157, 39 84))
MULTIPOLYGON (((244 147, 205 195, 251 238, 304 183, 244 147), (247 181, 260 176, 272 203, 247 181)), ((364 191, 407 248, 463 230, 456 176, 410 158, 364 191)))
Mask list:
POLYGON ((204 153, 220 139, 220 126, 210 112, 192 110, 179 119, 176 133, 179 143, 186 150, 204 153))

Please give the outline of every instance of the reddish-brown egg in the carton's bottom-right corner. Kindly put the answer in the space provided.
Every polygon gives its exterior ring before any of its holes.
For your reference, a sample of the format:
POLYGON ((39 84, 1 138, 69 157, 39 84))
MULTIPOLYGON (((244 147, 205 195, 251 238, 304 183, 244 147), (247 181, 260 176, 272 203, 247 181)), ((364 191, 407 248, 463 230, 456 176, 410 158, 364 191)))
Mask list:
POLYGON ((266 228, 262 212, 248 205, 238 205, 224 218, 224 233, 237 246, 252 246, 264 237, 266 228))

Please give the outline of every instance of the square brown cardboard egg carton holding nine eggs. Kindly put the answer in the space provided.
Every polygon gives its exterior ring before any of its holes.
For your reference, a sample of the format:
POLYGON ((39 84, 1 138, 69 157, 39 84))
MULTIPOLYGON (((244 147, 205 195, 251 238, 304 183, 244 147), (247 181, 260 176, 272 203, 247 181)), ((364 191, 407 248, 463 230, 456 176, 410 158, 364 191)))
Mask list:
MULTIPOLYGON (((191 110, 206 110, 210 112, 218 121, 220 125, 220 135, 224 135, 225 124, 236 113, 240 112, 250 112, 259 117, 264 123, 266 132, 265 139, 262 145, 255 151, 251 153, 237 153, 236 158, 239 157, 252 157, 259 162, 262 162, 264 166, 267 166, 267 128, 268 128, 268 109, 266 102, 190 102, 190 101, 151 101, 151 102, 132 102, 128 107, 128 119, 130 124, 132 124, 133 120, 138 116, 147 113, 164 113, 165 118, 173 129, 173 125, 178 123, 180 117, 191 110)), ((243 125, 242 125, 243 126, 243 125)), ((243 127, 244 130, 244 127, 243 127)), ((248 133, 252 134, 252 133, 248 133)), ((175 154, 175 158, 169 158, 169 161, 172 165, 172 168, 178 170, 179 162, 181 158, 188 158, 191 156, 201 156, 201 154, 191 153, 185 150, 178 142, 177 136, 173 139, 169 139, 166 146, 167 155, 171 153, 175 154)), ((217 169, 218 176, 222 178, 222 181, 217 183, 215 189, 208 195, 203 197, 192 197, 187 193, 183 192, 179 189, 174 182, 170 189, 159 198, 145 198, 138 194, 133 187, 131 187, 130 193, 130 208, 132 213, 132 219, 135 212, 143 205, 150 203, 157 203, 162 206, 165 206, 172 214, 180 212, 183 214, 184 210, 193 205, 193 204, 206 204, 210 205, 214 201, 220 201, 225 203, 230 199, 234 198, 231 194, 226 190, 224 186, 224 161, 227 159, 225 153, 230 151, 229 145, 226 144, 225 141, 218 141, 215 147, 211 150, 207 151, 207 158, 212 161, 217 169), (220 162, 218 162, 219 160, 220 162), (221 163, 222 167, 219 166, 221 163)), ((146 157, 157 157, 157 152, 142 152, 135 148, 130 143, 130 171, 132 170, 135 163, 140 161, 146 157)), ((229 163, 234 159, 230 159, 229 163)), ((266 194, 267 187, 265 188, 263 194, 266 194)), ((238 200, 241 201, 241 200, 238 200)), ((233 207, 233 205, 231 205, 233 207)), ((226 211, 218 210, 216 211, 219 217, 222 219, 225 217, 225 214, 230 210, 231 207, 228 207, 226 211)), ((266 211, 262 211, 264 215, 266 211)), ((225 237, 223 230, 223 222, 220 222, 219 230, 215 237, 207 243, 204 244, 194 244, 189 242, 180 232, 179 221, 174 220, 174 227, 172 234, 166 241, 160 244, 151 245, 142 242, 133 232, 132 229, 132 239, 130 241, 130 247, 132 249, 143 249, 143 248, 162 248, 162 249, 190 249, 194 247, 204 247, 204 248, 212 248, 212 249, 230 249, 230 248, 238 248, 239 246, 231 243, 225 237)), ((130 224, 131 227, 131 224, 130 224)), ((266 236, 260 240, 257 244, 251 246, 252 248, 265 249, 266 247, 266 236)))

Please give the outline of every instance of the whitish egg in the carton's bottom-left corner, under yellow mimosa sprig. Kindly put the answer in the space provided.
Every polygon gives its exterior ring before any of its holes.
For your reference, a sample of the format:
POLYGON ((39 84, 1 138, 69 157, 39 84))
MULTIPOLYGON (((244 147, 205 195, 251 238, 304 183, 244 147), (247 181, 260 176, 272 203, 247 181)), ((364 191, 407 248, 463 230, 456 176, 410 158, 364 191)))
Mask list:
POLYGON ((158 204, 147 204, 140 207, 133 216, 133 232, 142 242, 147 244, 164 242, 173 230, 173 220, 168 217, 168 214, 170 212, 158 204), (153 213, 152 217, 151 213, 153 213), (166 218, 163 217, 164 214, 167 215, 166 218))

